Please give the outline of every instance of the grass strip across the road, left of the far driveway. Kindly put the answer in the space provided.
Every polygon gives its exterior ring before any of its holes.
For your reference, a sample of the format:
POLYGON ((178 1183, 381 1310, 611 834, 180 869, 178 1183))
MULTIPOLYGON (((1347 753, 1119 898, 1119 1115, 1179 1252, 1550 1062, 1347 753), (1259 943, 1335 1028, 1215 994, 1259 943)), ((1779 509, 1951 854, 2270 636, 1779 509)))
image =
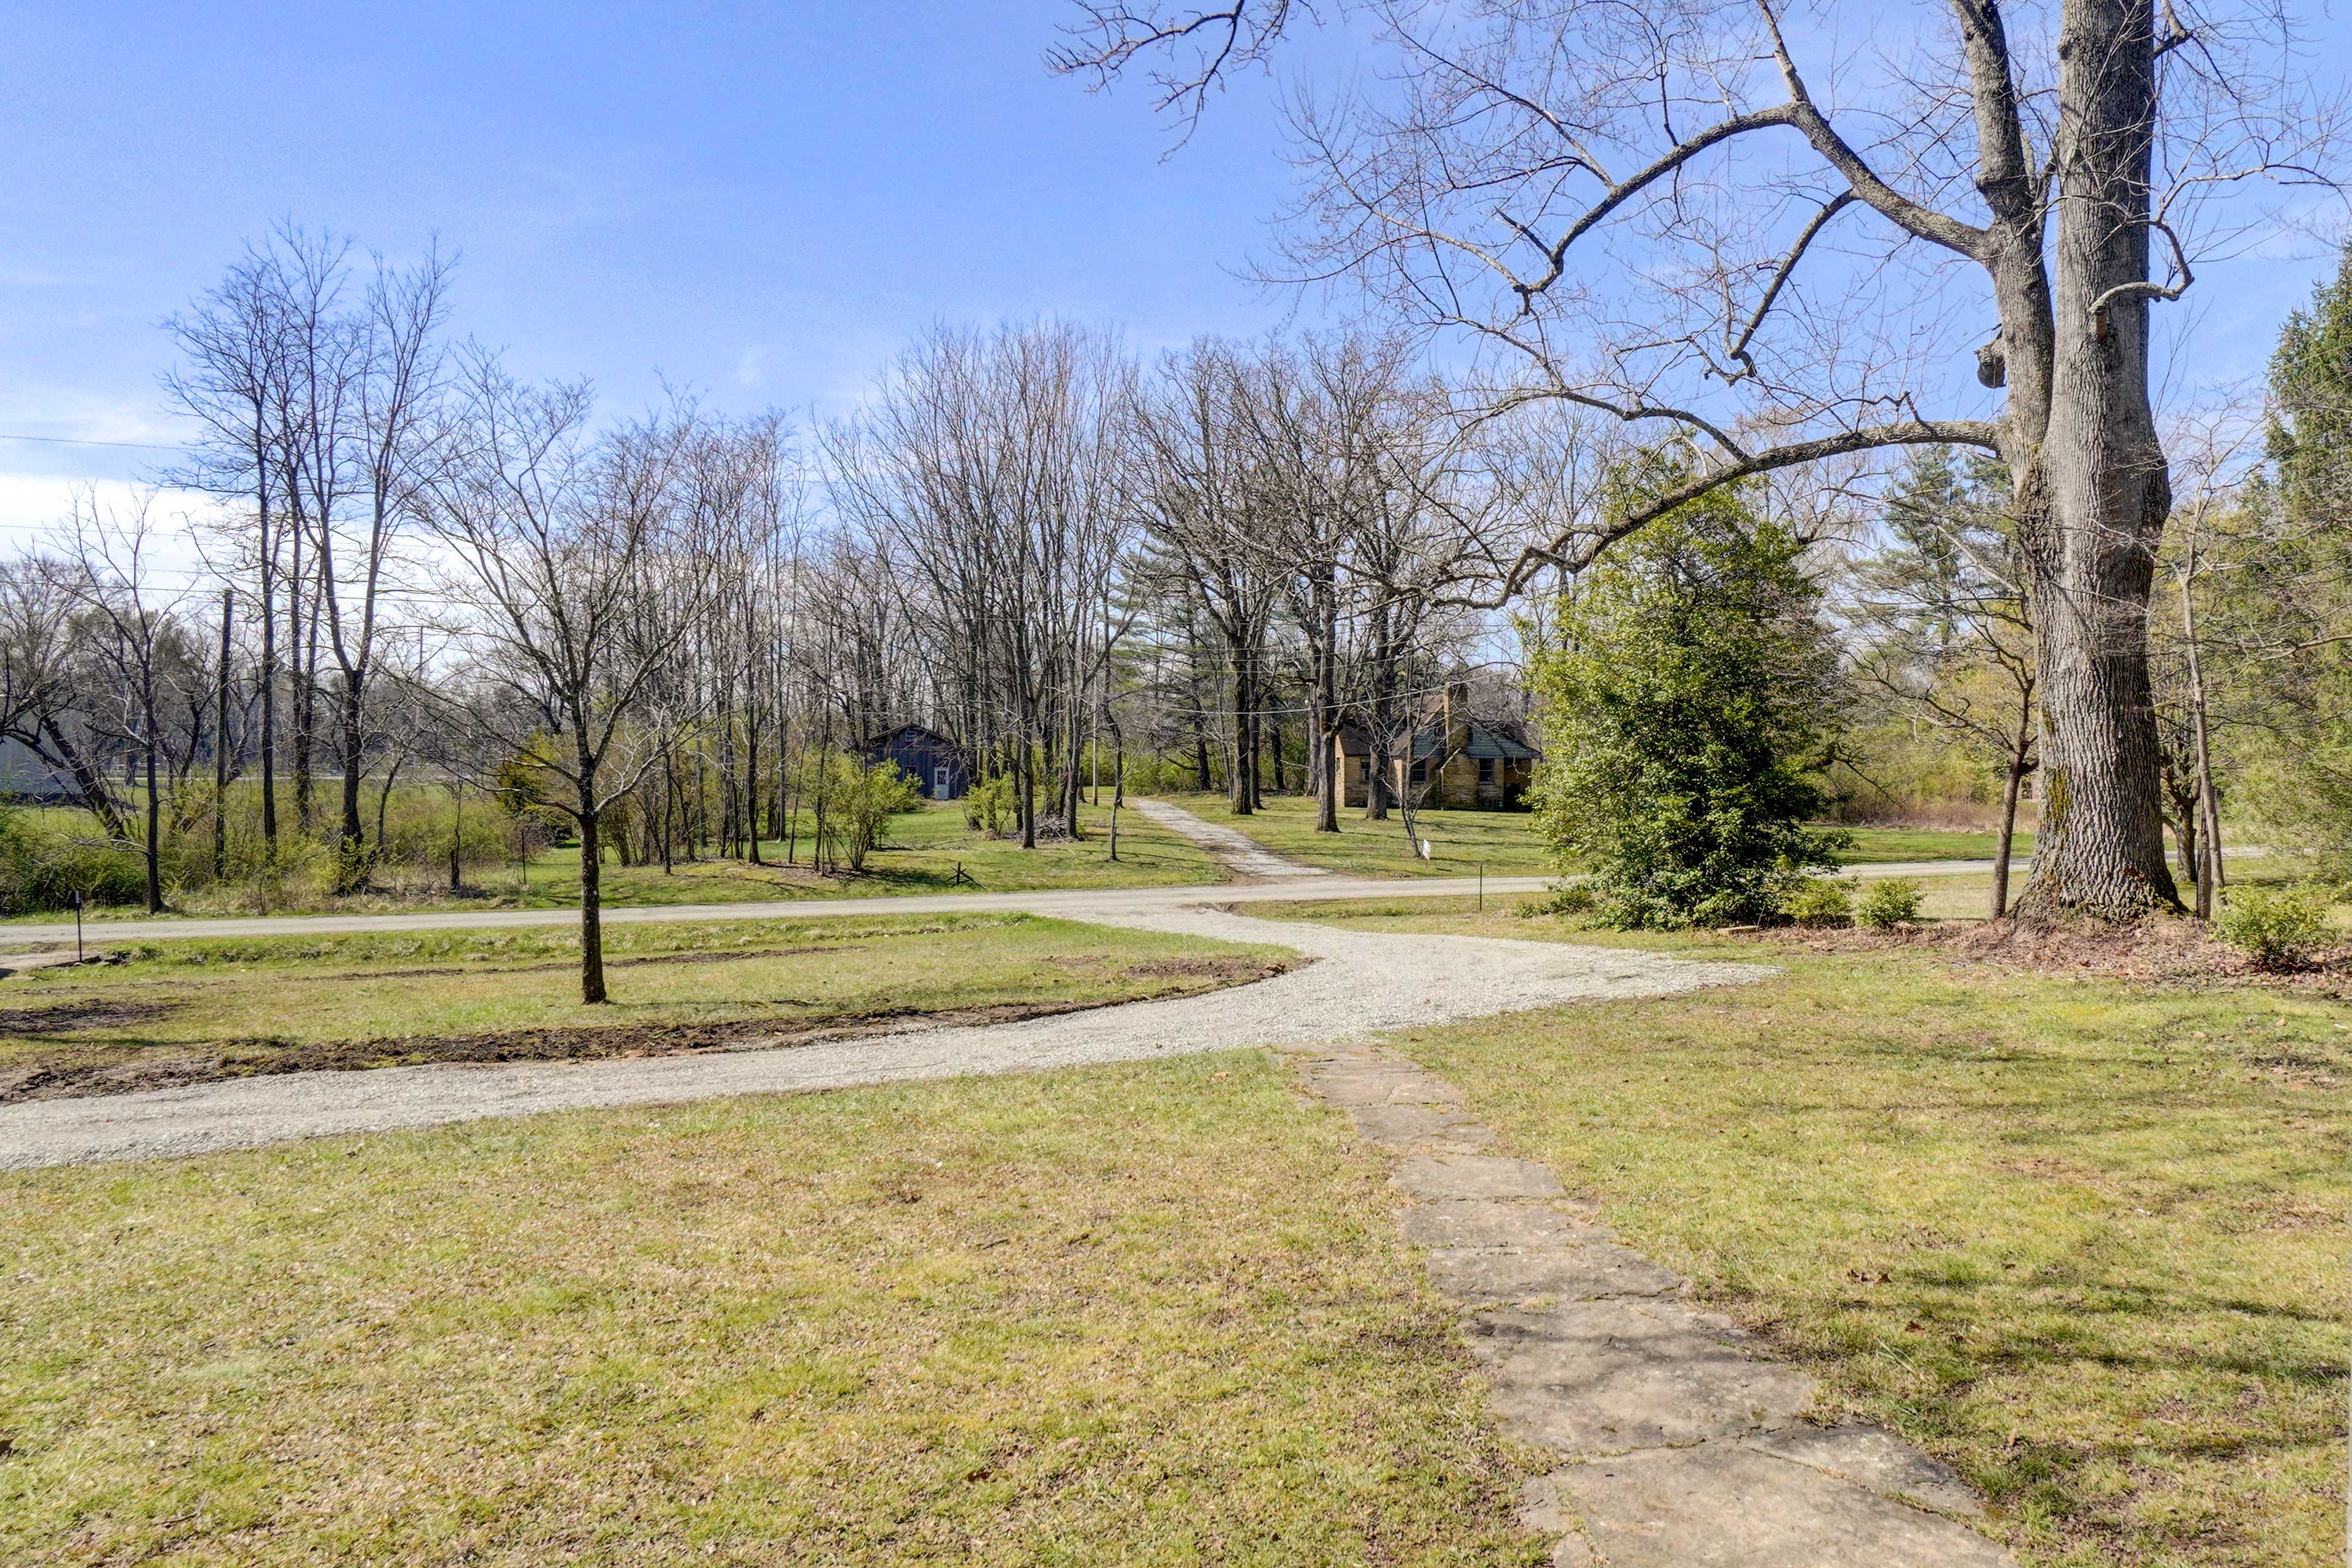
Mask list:
MULTIPOLYGON (((54 813, 73 816, 73 813, 54 813)), ((82 818, 87 825, 87 818, 82 818)), ((783 842, 769 839, 760 853, 776 865, 743 860, 680 860, 670 872, 659 865, 621 867, 604 863, 604 903, 612 905, 694 905, 755 903, 795 898, 877 898, 903 893, 950 893, 981 889, 1021 893, 1037 889, 1101 886, 1176 886, 1223 882, 1218 863, 1183 837, 1148 823, 1136 811, 1120 813, 1120 858, 1110 858, 1110 806, 1087 806, 1080 825, 1089 837, 1047 842, 1021 849, 1011 839, 993 839, 964 825, 955 802, 927 804, 891 818, 889 839, 866 863, 863 875, 821 877, 807 867, 809 844, 800 842, 802 865, 783 865, 783 842), (957 879, 962 872, 962 882, 957 879)), ((174 910, 188 914, 310 914, 367 910, 548 910, 579 905, 579 849, 550 849, 529 865, 468 870, 463 896, 449 896, 445 882, 426 872, 407 891, 332 898, 325 891, 287 889, 259 898, 242 884, 174 898, 174 910)), ((146 919, 136 905, 94 907, 92 919, 146 919)), ((56 912, 28 912, 9 919, 54 922, 56 912)))

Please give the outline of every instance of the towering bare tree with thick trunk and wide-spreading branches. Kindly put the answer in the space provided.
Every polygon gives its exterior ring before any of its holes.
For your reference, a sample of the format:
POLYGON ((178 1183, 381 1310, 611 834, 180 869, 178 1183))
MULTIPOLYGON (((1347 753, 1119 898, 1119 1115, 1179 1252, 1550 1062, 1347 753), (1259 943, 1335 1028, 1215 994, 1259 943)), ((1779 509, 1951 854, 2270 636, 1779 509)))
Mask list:
MULTIPOLYGON (((1291 275, 1355 277, 1491 350, 1491 407, 1576 402, 1703 451, 1675 487, 1529 545, 1494 597, 1743 477, 1990 451, 2042 693, 2020 907, 2176 907, 2147 675, 2171 510, 2150 313, 2190 289, 2213 197, 2324 179, 2336 158, 2343 110, 2305 87, 2288 19, 1950 0, 1853 52, 1771 0, 1084 0, 1058 66, 1108 82, 1143 61, 1162 106, 1197 115, 1327 9, 1362 19, 1388 68, 1294 99, 1291 275), (2013 21, 2032 31, 2013 40, 2013 21), (1962 336, 1985 315, 1990 341, 1962 336), (1950 374, 1971 360, 1999 407, 1950 374)), ((2206 228, 2241 242, 2230 219, 2206 228)))

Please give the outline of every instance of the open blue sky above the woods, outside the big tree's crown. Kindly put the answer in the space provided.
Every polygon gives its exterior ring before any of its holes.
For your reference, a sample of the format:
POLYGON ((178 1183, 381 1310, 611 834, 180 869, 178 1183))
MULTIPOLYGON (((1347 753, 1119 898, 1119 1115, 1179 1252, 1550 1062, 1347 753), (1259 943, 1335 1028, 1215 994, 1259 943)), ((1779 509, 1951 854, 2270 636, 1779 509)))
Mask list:
MULTIPOLYGON (((0 5, 0 433, 172 442, 160 320, 292 216, 461 252, 456 324, 635 407, 854 400, 931 320, 1063 313, 1131 346, 1256 331, 1279 209, 1263 80, 1174 158, 1141 92, 1047 75, 1063 0, 0 5)), ((2343 33, 2328 26, 2328 33, 2343 33)), ((1329 61, 1331 42, 1315 45, 1329 61)), ((2251 374, 2321 259, 2206 270, 2251 374)), ((0 529, 167 454, 0 440, 0 529)))

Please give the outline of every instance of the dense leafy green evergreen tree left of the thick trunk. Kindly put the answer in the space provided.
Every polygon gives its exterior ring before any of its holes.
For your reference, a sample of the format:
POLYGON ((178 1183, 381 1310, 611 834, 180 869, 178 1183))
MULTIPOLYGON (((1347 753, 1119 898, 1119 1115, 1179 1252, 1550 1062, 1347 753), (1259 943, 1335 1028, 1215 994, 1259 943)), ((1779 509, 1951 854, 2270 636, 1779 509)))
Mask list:
POLYGON ((1842 835, 1806 827, 1830 799, 1837 656, 1802 550, 1717 487, 1559 604, 1534 661, 1536 830, 1592 872, 1609 924, 1752 922, 1837 865, 1842 835))

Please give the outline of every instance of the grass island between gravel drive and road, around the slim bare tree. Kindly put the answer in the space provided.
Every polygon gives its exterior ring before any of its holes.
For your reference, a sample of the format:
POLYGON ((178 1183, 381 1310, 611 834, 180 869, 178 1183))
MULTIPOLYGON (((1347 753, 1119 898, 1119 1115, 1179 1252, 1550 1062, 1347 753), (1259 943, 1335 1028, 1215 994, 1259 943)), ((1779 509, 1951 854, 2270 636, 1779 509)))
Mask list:
POLYGON ((35 969, 0 987, 0 1098, 12 1084, 56 1093, 158 1072, 614 1056, 1056 1011, 1230 985, 1289 957, 1011 912, 619 924, 604 940, 614 1001, 593 1009, 579 1001, 579 931, 564 926, 120 945, 125 964, 35 969))

